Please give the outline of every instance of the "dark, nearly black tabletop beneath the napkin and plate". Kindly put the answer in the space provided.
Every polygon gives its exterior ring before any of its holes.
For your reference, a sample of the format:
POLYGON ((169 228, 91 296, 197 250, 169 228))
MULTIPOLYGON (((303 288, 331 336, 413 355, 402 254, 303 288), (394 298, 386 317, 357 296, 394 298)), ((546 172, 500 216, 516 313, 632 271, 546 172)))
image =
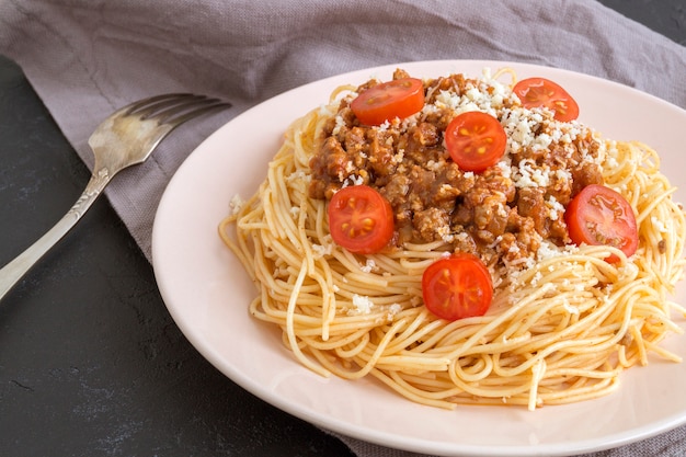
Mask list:
MULTIPOLYGON (((684 0, 602 0, 686 45, 684 0)), ((89 172, 0 56, 0 265, 57 221, 89 172)), ((101 199, 0 302, 0 456, 352 456, 241 389, 169 316, 101 199)))

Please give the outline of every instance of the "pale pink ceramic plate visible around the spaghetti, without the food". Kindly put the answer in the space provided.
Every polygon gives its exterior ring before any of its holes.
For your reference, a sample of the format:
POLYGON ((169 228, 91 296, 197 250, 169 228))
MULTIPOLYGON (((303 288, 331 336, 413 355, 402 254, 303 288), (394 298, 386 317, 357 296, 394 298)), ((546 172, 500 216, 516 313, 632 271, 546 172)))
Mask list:
MULTIPOLYGON (((289 123, 324 103, 333 88, 389 79, 397 67, 416 77, 480 76, 513 67, 519 78, 562 84, 581 106, 580 119, 606 137, 639 139, 661 152, 672 182, 686 188, 686 112, 633 89, 588 76, 498 61, 427 61, 361 70, 283 93, 226 124, 183 163, 160 203, 152 233, 162 297, 191 343, 235 382, 273 405, 321 427, 364 441, 437 455, 571 455, 642 439, 686 422, 686 363, 652 358, 625 373, 608 397, 535 412, 513 407, 414 404, 374 380, 321 378, 294 361, 278 332, 249 317, 254 288, 217 236, 236 195, 264 179, 289 123)), ((678 201, 686 202, 681 192, 678 201)), ((684 287, 677 299, 686 296, 684 287)), ((684 327, 686 323, 682 322, 684 327)), ((666 346, 686 358, 686 336, 666 346)))

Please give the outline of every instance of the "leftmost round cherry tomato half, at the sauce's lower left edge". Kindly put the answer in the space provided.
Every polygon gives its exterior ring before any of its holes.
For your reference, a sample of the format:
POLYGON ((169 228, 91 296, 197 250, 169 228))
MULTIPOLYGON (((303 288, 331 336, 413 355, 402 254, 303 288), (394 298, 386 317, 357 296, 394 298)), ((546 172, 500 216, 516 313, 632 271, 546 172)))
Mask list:
POLYGON ((357 254, 374 254, 393 236, 390 203, 368 185, 343 187, 329 202, 333 241, 357 254))

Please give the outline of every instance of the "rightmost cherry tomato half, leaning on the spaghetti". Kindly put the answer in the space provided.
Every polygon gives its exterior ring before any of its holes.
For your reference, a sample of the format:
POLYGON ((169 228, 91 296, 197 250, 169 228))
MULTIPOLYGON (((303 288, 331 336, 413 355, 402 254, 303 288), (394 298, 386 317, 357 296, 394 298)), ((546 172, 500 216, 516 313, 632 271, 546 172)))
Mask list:
MULTIPOLYGON (((585 186, 564 212, 569 236, 575 244, 614 245, 627 256, 639 245, 636 216, 621 194, 599 184, 585 186)), ((619 261, 616 255, 606 259, 619 261)))

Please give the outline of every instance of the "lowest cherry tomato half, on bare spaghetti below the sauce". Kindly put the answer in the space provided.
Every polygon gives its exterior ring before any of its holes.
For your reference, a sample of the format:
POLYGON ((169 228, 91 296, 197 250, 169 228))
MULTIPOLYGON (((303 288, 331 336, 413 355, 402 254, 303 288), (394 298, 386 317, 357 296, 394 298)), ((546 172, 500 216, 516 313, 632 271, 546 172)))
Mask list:
POLYGON ((422 276, 426 308, 442 319, 483 316, 491 306, 493 283, 476 255, 458 253, 428 265, 422 276))

